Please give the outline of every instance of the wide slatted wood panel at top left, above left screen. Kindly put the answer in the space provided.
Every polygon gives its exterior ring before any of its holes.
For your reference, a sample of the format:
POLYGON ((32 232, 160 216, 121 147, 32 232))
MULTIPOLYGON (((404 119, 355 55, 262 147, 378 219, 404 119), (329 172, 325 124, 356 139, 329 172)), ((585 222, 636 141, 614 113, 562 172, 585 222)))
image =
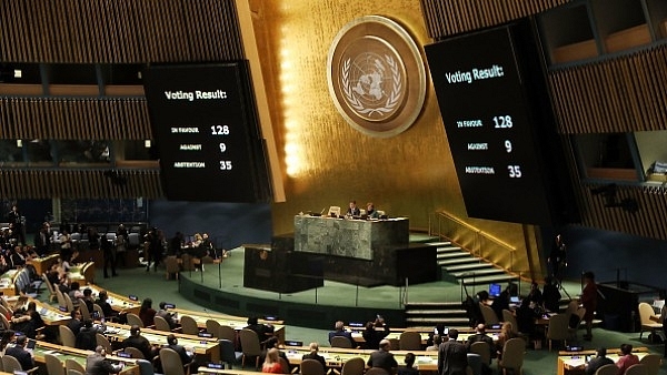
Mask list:
POLYGON ((243 59, 233 0, 3 0, 2 61, 243 59))

